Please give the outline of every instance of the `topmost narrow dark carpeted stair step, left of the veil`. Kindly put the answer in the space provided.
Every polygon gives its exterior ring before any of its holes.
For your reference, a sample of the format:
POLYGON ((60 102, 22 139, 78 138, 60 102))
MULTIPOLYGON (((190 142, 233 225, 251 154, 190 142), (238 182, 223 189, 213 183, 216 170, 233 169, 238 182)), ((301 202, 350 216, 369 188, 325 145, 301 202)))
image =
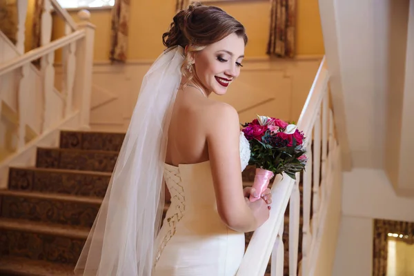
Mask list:
POLYGON ((125 133, 61 131, 60 147, 78 150, 119 151, 125 133))

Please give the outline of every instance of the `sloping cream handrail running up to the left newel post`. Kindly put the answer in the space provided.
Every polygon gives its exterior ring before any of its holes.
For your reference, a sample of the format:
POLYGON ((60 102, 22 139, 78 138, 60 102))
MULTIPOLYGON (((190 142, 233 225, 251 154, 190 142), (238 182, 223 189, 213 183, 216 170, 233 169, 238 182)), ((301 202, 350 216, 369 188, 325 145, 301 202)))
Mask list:
POLYGON ((39 57, 43 57, 49 52, 62 48, 72 43, 73 41, 77 41, 83 37, 85 37, 85 30, 77 30, 76 32, 72 32, 71 34, 68 34, 66 37, 61 37, 60 39, 57 39, 46 46, 42 46, 41 48, 31 50, 27 52, 25 55, 5 62, 0 66, 0 76, 8 72, 11 72, 14 69, 17 69, 25 65, 26 63, 34 61, 35 59, 39 59, 39 57))

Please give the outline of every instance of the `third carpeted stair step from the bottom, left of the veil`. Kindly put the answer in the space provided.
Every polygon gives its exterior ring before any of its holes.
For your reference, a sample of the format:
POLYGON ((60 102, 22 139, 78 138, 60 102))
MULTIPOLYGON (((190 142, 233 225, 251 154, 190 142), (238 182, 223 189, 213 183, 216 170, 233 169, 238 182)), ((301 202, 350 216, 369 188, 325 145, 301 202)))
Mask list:
POLYGON ((0 191, 0 217, 92 227, 102 199, 14 190, 0 191))

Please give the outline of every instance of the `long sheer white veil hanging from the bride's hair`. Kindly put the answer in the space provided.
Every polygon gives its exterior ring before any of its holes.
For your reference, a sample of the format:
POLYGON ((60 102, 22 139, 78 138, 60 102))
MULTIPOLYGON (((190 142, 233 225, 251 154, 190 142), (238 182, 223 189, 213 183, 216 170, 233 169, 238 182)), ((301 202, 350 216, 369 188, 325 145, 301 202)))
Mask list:
POLYGON ((76 275, 151 275, 154 239, 164 208, 168 127, 183 61, 183 48, 168 48, 146 73, 76 275))

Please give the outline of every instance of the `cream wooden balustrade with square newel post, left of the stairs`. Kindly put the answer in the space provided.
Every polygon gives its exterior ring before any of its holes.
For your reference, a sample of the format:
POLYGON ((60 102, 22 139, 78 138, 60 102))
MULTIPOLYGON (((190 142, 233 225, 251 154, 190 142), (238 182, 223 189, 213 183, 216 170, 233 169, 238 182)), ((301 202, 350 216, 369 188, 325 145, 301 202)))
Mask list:
MULTIPOLYGON (((92 63, 95 26, 90 23, 90 13, 78 13, 80 23, 63 10, 56 0, 44 0, 41 14, 41 47, 24 52, 24 18, 27 0, 18 0, 19 29, 17 52, 19 56, 0 63, 0 83, 12 83, 0 88, 0 106, 6 102, 17 113, 17 143, 14 152, 21 152, 26 146, 26 128, 41 136, 53 130, 62 121, 77 114, 79 128, 88 128, 90 96, 92 88, 92 63), (51 41, 52 16, 54 9, 66 23, 64 37, 51 41), (23 22, 23 23, 22 23, 23 22), (55 88, 55 51, 62 49, 63 79, 61 88, 55 88), (40 70, 32 61, 40 59, 40 70), (17 99, 17 100, 13 100, 17 99)), ((10 157, 11 158, 11 157, 10 157)), ((7 163, 7 159, 6 162, 7 163)), ((5 163, 5 164, 6 164, 5 163)), ((3 164, 0 164, 3 167, 3 164)))

